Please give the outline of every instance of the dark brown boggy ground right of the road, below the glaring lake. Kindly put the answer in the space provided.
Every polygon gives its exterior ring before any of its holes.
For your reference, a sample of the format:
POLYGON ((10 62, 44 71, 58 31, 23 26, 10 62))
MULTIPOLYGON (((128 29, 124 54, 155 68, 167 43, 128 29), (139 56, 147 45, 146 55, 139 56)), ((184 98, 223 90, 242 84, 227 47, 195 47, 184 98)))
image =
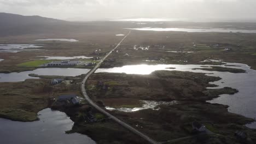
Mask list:
MULTIPOLYGON (((246 142, 255 143, 256 131, 243 126, 253 122, 253 119, 228 112, 228 106, 205 102, 218 97, 219 94, 237 92, 232 88, 206 89, 212 86, 208 82, 219 79, 219 77, 182 71, 155 71, 150 75, 98 73, 89 78, 86 89, 98 104, 116 108, 139 107, 141 105, 139 100, 178 100, 177 104, 158 106, 159 110, 147 109, 131 113, 109 111, 160 142, 172 143, 174 142, 172 140, 183 137, 176 143, 244 143, 245 141, 237 140, 234 136, 236 130, 242 130, 250 137, 246 142), (108 88, 97 86, 98 81, 108 88), (194 121, 205 124, 214 134, 193 135, 191 123, 194 121)), ((102 125, 102 122, 94 125, 98 124, 102 125)), ((74 127, 73 130, 84 134, 97 131, 97 129, 89 129, 74 127)), ((107 128, 102 130, 108 131, 107 128)), ((99 131, 100 129, 97 132, 99 131)), ((96 141, 104 139, 95 138, 96 141)))

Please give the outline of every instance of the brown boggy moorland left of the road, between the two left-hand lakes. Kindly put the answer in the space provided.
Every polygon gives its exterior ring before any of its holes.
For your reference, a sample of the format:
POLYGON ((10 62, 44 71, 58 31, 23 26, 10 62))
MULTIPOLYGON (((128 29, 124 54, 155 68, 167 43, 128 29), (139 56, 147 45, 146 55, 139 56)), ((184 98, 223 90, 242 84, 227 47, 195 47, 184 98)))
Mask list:
POLYGON ((79 106, 56 107, 54 98, 62 94, 80 93, 80 84, 84 75, 76 77, 65 76, 40 76, 40 79, 27 79, 23 82, 2 82, 0 87, 0 117, 13 121, 31 122, 37 121, 37 113, 50 107, 65 112, 74 126, 67 133, 78 132, 90 136, 97 143, 147 143, 137 135, 121 127, 111 119, 104 117, 98 111, 92 109, 92 115, 98 120, 97 123, 85 122, 86 111, 91 109, 90 105, 83 100, 79 106), (65 79, 64 82, 51 85, 50 80, 54 78, 65 79))

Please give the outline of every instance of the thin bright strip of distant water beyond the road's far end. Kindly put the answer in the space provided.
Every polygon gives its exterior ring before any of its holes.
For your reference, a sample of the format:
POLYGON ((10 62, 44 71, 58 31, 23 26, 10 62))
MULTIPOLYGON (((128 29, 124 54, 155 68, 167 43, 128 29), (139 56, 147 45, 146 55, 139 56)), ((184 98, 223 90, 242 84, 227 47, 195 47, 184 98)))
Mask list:
POLYGON ((222 28, 152 28, 152 27, 144 27, 144 28, 125 28, 132 29, 137 31, 158 31, 158 32, 167 32, 167 31, 176 31, 176 32, 222 32, 222 33, 256 33, 256 30, 245 30, 245 29, 222 29, 222 28))

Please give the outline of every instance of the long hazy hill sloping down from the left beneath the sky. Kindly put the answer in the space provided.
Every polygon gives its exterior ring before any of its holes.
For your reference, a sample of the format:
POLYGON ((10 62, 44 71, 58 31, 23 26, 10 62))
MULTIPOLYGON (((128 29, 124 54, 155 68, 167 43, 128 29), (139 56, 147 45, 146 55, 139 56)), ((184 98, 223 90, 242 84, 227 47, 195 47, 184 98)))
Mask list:
POLYGON ((0 13, 0 37, 11 35, 77 35, 81 33, 112 32, 131 27, 132 23, 111 21, 71 22, 41 16, 0 13))

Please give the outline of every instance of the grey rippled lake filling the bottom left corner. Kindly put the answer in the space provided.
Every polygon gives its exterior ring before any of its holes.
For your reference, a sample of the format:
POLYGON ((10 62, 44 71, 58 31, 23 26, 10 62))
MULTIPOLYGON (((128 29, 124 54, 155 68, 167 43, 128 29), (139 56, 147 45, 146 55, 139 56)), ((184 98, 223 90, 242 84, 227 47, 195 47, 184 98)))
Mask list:
POLYGON ((0 137, 3 144, 94 144, 90 137, 78 133, 65 134, 74 122, 60 111, 44 109, 38 112, 40 121, 15 122, 0 118, 0 137))

